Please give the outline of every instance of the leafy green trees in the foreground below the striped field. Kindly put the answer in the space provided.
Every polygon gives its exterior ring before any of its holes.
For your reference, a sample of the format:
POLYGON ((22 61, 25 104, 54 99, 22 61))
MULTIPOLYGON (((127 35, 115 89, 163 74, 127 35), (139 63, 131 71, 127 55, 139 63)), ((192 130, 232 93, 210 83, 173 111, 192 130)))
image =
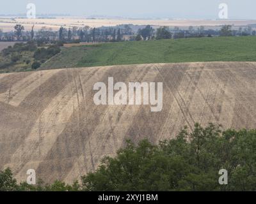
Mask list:
POLYGON ((41 179, 35 186, 17 184, 7 168, 0 172, 0 191, 256 191, 256 130, 195 124, 157 145, 127 140, 115 157, 104 157, 72 185, 41 179), (219 181, 223 169, 227 185, 219 181))

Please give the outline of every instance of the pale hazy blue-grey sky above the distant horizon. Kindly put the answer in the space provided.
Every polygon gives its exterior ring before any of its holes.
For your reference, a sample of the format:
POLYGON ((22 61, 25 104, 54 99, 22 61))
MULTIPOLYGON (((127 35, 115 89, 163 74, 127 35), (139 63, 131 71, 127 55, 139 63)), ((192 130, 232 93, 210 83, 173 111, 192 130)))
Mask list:
POLYGON ((228 4, 228 18, 256 19, 255 0, 0 0, 0 14, 26 13, 35 3, 37 14, 103 15, 134 18, 218 18, 219 4, 228 4))

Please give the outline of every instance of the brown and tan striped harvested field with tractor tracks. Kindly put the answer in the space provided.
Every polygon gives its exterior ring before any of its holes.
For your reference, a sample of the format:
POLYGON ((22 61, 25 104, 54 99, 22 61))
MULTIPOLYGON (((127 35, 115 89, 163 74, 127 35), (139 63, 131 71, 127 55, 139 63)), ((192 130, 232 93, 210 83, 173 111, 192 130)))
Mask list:
POLYGON ((157 142, 195 122, 256 128, 256 62, 194 62, 54 69, 0 75, 0 169, 72 182, 127 138, 157 142), (95 105, 93 85, 163 82, 163 110, 95 105))

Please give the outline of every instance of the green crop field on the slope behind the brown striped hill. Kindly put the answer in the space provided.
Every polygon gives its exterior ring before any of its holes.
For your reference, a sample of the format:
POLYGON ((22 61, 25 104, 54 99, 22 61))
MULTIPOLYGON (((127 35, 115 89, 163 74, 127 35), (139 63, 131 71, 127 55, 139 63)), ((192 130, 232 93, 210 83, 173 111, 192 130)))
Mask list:
POLYGON ((256 37, 127 41, 65 47, 41 69, 166 62, 256 61, 256 37))

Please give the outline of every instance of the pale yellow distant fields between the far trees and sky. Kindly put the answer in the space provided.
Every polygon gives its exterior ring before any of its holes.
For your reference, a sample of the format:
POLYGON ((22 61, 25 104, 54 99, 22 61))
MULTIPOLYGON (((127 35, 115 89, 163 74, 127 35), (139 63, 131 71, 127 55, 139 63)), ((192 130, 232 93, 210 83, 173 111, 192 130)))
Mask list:
POLYGON ((3 31, 13 31, 13 27, 16 24, 24 25, 26 30, 31 30, 31 27, 35 24, 35 30, 42 27, 51 28, 53 30, 60 29, 60 26, 64 27, 84 27, 89 25, 90 27, 101 26, 116 26, 120 24, 134 24, 134 25, 154 25, 154 26, 179 26, 189 27, 189 25, 200 26, 204 25, 205 28, 212 29, 230 24, 234 25, 233 28, 238 29, 239 26, 245 26, 248 24, 256 24, 256 20, 154 20, 154 19, 88 19, 84 17, 58 17, 58 18, 15 18, 15 17, 0 17, 0 28, 3 31))

